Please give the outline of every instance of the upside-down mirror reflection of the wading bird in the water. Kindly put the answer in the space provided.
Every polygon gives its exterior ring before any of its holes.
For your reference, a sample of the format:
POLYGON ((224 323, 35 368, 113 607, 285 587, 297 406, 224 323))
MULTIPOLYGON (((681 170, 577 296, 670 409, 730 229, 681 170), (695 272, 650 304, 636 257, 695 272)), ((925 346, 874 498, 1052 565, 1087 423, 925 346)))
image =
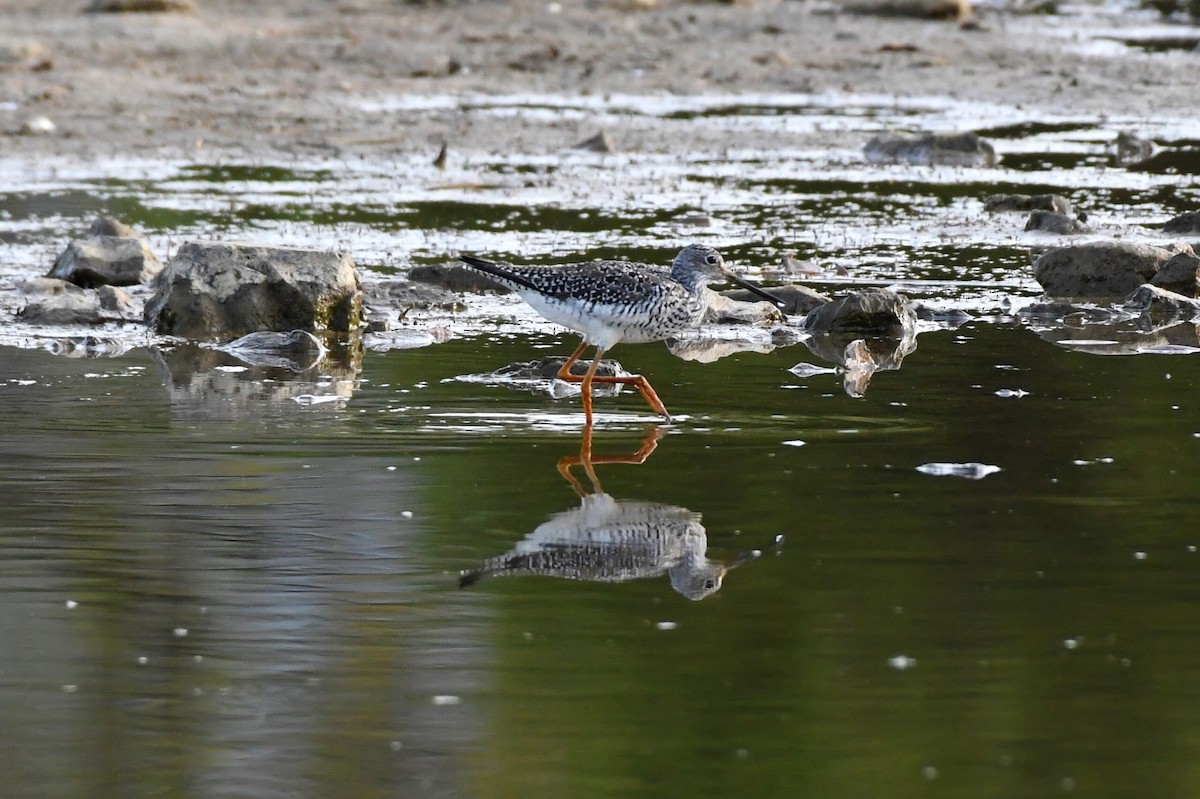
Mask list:
POLYGON ((662 434, 662 428, 655 426, 630 455, 594 456, 592 428, 584 427, 580 453, 558 462, 559 474, 580 495, 580 506, 556 513, 509 552, 463 572, 458 584, 467 587, 486 577, 510 575, 623 583, 666 573, 671 587, 690 600, 715 594, 731 569, 761 553, 710 560, 700 513, 677 505, 616 499, 605 493, 595 473, 598 463, 644 462, 662 434), (590 492, 572 474, 577 465, 592 483, 590 492))

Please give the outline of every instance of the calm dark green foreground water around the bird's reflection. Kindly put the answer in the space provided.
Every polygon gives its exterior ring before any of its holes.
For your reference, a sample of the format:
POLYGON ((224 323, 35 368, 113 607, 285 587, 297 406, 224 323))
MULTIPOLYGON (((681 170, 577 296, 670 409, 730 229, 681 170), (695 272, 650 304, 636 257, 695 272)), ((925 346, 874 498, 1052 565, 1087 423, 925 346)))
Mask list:
MULTIPOLYGON (((4 349, 0 795, 1195 795, 1194 360, 918 343, 857 400, 803 346, 618 348, 684 419, 605 491, 763 549, 698 602, 457 587, 580 506, 581 439, 452 378, 569 337, 367 353, 316 405, 4 349)), ((598 407, 598 456, 655 423, 598 407)))

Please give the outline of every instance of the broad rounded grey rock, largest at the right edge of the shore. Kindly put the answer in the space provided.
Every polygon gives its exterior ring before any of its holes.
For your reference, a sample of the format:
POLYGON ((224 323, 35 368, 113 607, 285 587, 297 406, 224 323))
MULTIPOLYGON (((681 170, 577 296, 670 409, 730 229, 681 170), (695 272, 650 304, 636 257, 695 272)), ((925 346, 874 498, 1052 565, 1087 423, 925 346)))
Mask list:
POLYGON ((1033 277, 1050 296, 1128 296, 1171 258, 1162 247, 1090 241, 1049 250, 1033 262, 1033 277))

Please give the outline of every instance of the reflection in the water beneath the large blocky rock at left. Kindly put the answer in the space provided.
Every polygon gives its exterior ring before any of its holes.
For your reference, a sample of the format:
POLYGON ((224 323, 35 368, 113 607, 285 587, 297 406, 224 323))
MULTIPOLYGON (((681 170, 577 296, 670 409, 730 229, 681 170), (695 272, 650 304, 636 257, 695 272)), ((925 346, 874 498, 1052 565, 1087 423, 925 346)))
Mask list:
POLYGON ((252 334, 221 347, 152 348, 172 404, 198 416, 248 417, 264 405, 349 400, 362 368, 356 341, 325 343, 311 334, 252 334))

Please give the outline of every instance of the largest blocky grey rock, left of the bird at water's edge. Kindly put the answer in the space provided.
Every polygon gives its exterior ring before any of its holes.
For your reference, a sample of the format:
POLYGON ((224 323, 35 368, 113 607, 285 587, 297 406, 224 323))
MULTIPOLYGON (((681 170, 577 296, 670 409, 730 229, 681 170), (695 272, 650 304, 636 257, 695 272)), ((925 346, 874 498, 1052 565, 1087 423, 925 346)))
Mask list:
POLYGON ((192 340, 348 331, 361 318, 362 290, 348 254, 210 241, 179 248, 145 308, 151 330, 192 340))

